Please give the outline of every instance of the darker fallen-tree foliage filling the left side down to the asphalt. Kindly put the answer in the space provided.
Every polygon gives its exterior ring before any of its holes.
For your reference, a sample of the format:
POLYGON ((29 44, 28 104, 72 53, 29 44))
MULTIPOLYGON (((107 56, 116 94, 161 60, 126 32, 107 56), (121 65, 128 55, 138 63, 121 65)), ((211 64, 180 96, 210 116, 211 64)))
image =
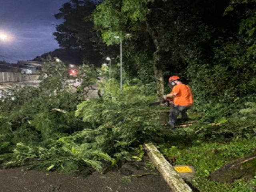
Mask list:
MULTIPOLYGON (((81 66, 80 73, 77 78, 82 80, 81 91, 98 78, 92 66, 81 66)), ((84 150, 83 146, 66 143, 61 146, 61 142, 57 142, 85 126, 91 127, 75 117, 81 92, 74 92, 68 85, 66 65, 48 58, 41 78, 38 88, 25 86, 2 90, 6 97, 0 108, 1 162, 11 160, 5 166, 28 165, 48 170, 78 170, 80 165, 99 169, 100 163, 92 161, 91 157, 110 160, 106 154, 94 151, 82 156, 76 151, 84 150), (12 150, 12 157, 8 159, 5 154, 12 150)))

